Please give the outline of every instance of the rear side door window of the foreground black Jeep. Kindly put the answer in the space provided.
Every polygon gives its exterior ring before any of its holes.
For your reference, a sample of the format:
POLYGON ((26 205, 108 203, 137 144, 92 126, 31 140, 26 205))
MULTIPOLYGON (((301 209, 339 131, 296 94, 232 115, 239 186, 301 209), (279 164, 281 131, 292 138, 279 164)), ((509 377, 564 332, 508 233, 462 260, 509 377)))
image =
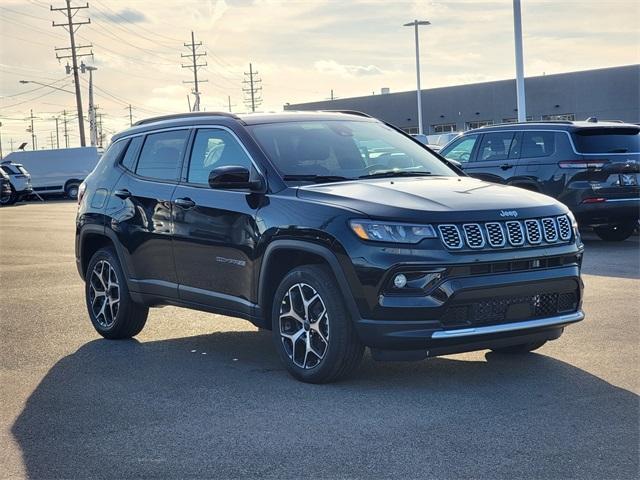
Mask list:
POLYGON ((159 180, 177 180, 188 135, 188 130, 147 135, 136 173, 159 180))

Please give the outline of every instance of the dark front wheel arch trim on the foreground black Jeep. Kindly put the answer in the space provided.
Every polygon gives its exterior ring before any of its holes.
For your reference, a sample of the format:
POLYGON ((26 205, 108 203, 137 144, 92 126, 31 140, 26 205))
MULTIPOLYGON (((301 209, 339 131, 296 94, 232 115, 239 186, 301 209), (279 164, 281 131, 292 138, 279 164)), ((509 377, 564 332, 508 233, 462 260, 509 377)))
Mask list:
POLYGON ((302 240, 275 240, 266 248, 258 280, 258 305, 265 324, 271 328, 273 295, 284 276, 302 265, 326 265, 338 282, 345 305, 352 319, 360 314, 351 288, 335 254, 323 245, 302 240))

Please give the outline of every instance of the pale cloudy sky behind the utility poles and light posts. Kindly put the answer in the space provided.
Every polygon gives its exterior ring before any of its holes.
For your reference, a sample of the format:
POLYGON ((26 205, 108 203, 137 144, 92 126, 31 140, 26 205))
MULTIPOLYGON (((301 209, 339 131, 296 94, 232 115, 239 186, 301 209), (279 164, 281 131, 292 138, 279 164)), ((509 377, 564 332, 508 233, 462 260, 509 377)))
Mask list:
MULTIPOLYGON (((525 75, 535 76, 640 63, 640 1, 523 0, 525 75)), ((64 5, 54 0, 54 7, 64 5)), ((75 5, 83 5, 83 1, 75 5)), ((53 117, 75 115, 74 96, 21 79, 56 82, 73 90, 66 60, 54 47, 69 45, 67 32, 53 28, 64 16, 41 0, 0 0, 0 121, 5 154, 30 141, 24 118, 33 109, 40 147, 49 146, 53 117)), ((76 20, 78 43, 93 44, 96 103, 105 131, 154 114, 186 111, 191 80, 181 68, 183 42, 191 30, 208 66, 199 71, 202 107, 246 111, 242 94, 249 62, 262 78, 263 111, 290 102, 378 94, 415 88, 414 18, 421 29, 423 88, 512 78, 511 0, 89 0, 76 20)), ((83 49, 82 51, 88 51, 83 49)), ((63 54, 65 52, 62 52, 63 54)), ((85 115, 88 74, 81 75, 85 115)), ((72 144, 77 121, 70 121, 72 144)), ((87 133, 88 141, 88 133, 87 133)))

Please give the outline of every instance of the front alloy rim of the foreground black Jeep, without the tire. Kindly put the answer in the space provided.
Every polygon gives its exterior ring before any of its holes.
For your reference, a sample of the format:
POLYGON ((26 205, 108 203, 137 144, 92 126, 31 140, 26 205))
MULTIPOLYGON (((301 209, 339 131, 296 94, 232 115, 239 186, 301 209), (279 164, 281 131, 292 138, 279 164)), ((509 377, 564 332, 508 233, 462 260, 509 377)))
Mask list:
POLYGON ((291 286, 282 299, 280 337, 293 363, 317 367, 329 347, 329 316, 320 294, 306 283, 291 286))

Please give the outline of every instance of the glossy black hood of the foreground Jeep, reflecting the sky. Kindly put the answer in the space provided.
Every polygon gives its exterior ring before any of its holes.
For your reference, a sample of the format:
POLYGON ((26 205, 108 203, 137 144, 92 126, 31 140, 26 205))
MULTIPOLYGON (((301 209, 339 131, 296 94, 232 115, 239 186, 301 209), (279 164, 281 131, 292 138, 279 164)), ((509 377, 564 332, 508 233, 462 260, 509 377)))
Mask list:
POLYGON ((335 182, 299 187, 297 194, 305 200, 358 210, 371 218, 407 222, 510 220, 567 212, 546 195, 471 177, 335 182))

